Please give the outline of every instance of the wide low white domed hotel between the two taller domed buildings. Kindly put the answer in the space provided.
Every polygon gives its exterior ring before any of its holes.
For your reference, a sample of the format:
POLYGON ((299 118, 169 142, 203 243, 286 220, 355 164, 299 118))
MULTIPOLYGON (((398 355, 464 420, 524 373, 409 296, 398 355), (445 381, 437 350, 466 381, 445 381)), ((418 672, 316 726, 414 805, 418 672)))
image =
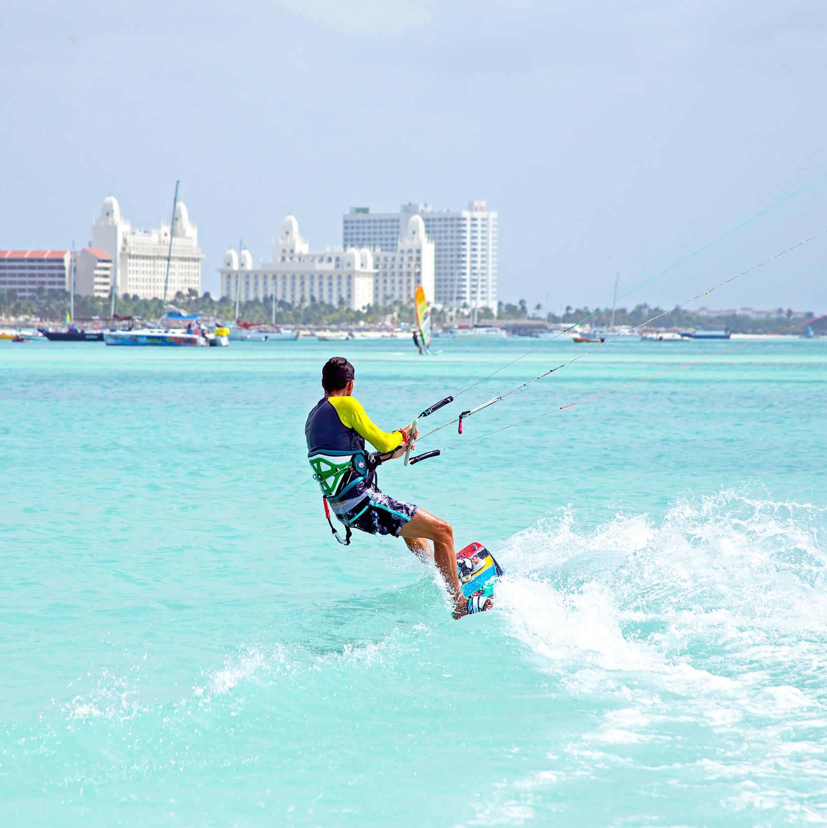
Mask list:
POLYGON ((299 223, 288 215, 281 235, 272 243, 272 257, 252 267, 252 256, 242 250, 224 253, 221 295, 241 301, 272 298, 291 305, 324 301, 344 304, 351 310, 364 310, 373 304, 373 254, 368 250, 325 250, 311 253, 299 234, 299 223))

